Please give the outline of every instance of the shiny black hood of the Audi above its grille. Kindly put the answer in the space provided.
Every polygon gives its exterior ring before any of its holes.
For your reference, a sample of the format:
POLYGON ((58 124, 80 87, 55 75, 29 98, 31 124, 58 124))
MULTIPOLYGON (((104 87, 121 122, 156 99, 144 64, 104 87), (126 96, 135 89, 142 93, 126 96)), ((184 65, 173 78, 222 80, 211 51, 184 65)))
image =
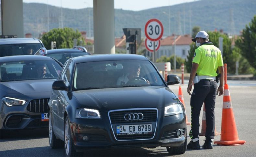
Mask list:
POLYGON ((167 87, 126 87, 72 92, 81 107, 103 111, 124 108, 163 108, 177 103, 176 95, 167 87))

